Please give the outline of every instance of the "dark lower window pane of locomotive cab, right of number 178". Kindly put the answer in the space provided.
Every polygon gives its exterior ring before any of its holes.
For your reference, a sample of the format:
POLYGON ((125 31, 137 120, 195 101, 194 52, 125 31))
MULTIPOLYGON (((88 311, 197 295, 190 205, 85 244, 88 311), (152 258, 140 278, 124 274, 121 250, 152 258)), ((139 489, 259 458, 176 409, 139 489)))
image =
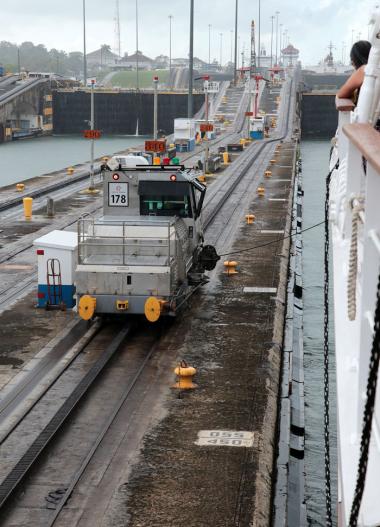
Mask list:
POLYGON ((189 196, 140 196, 140 214, 142 216, 193 217, 189 196))

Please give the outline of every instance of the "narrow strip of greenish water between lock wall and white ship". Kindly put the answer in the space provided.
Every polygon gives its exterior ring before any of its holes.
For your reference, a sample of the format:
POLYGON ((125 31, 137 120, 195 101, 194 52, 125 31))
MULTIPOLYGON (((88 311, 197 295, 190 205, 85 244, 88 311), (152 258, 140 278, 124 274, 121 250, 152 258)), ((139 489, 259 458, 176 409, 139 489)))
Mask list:
MULTIPOLYGON (((330 142, 328 140, 302 141, 301 143, 305 193, 304 228, 319 223, 324 218, 325 180, 329 171, 329 154, 330 142)), ((306 506, 308 525, 324 526, 326 525, 326 509, 323 435, 323 225, 305 232, 303 242, 306 506)), ((332 294, 332 290, 330 294, 332 294)), ((332 312, 330 317, 332 320, 332 312)), ((330 328, 330 337, 330 453, 332 506, 335 511, 337 502, 337 436, 332 327, 330 328)))

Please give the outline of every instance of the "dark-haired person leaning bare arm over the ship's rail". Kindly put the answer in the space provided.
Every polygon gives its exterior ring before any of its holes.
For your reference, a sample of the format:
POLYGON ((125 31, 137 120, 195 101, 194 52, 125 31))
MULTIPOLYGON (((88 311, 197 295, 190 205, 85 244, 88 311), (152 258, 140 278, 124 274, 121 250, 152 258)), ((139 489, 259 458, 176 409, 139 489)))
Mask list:
POLYGON ((364 81, 364 68, 368 62, 370 49, 371 44, 366 40, 359 40, 352 46, 350 59, 355 71, 338 90, 336 95, 339 99, 352 99, 356 104, 364 81))

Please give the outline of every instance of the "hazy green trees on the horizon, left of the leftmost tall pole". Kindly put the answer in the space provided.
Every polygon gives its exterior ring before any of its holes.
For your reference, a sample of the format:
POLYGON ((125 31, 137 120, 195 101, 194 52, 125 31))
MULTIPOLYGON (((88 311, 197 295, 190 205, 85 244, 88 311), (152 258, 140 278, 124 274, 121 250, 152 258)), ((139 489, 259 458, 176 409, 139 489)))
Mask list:
POLYGON ((52 48, 48 50, 43 44, 23 42, 19 46, 11 42, 0 42, 0 64, 5 71, 44 71, 79 77, 83 71, 83 53, 52 48))

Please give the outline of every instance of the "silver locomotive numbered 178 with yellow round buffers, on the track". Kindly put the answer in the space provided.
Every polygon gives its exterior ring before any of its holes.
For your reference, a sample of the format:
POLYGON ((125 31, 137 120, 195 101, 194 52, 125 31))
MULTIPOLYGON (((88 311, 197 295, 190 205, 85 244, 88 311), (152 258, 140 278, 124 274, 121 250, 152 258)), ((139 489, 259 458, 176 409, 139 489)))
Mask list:
POLYGON ((108 162, 103 216, 79 221, 76 290, 84 319, 173 315, 216 264, 215 250, 203 244, 206 187, 195 172, 134 158, 132 167, 123 158, 108 162))

